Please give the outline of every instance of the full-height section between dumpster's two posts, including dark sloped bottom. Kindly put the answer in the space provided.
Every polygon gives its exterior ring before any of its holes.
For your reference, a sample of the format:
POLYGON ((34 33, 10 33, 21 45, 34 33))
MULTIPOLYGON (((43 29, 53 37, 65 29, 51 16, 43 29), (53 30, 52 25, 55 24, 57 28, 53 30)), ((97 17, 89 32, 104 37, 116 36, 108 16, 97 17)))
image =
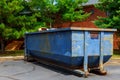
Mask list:
POLYGON ((85 53, 88 58, 88 66, 94 67, 99 66, 100 59, 100 43, 101 43, 101 32, 88 31, 85 36, 85 53))

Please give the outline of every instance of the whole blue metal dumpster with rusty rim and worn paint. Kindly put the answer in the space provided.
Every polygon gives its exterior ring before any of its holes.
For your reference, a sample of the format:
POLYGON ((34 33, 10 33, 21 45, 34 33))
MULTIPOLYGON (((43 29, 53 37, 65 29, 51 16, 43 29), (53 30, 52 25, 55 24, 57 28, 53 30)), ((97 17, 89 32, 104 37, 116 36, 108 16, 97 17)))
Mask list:
POLYGON ((25 34, 25 57, 45 58, 64 65, 103 71, 113 54, 116 29, 62 28, 25 34))

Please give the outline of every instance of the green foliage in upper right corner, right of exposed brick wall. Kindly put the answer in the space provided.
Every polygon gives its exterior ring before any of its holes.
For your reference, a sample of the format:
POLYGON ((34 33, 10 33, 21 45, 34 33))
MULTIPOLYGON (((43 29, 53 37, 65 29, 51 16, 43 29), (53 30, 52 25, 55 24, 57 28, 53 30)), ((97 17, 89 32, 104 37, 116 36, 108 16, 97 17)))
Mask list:
POLYGON ((117 28, 120 30, 120 0, 99 0, 97 8, 108 13, 107 18, 100 17, 95 23, 102 28, 117 28))

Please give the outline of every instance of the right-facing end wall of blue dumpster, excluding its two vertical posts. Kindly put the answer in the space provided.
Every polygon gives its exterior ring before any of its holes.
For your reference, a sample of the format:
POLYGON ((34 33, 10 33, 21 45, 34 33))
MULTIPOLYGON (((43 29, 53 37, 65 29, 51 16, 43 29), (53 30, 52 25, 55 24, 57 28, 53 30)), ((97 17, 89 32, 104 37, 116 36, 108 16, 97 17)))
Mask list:
POLYGON ((84 54, 86 52, 88 55, 88 66, 99 66, 101 49, 103 63, 110 59, 113 53, 113 33, 103 32, 102 36, 104 40, 101 40, 101 32, 88 31, 86 33, 87 36, 85 36, 85 31, 72 31, 72 65, 83 66, 84 54))

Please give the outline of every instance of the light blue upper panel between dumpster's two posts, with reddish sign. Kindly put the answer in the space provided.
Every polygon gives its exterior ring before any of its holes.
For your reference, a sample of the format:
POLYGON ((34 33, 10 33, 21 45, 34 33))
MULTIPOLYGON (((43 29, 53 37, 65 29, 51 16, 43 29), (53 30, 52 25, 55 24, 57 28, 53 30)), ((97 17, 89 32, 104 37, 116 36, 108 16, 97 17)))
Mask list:
POLYGON ((87 41, 87 51, 89 56, 100 54, 100 32, 89 31, 87 41))

